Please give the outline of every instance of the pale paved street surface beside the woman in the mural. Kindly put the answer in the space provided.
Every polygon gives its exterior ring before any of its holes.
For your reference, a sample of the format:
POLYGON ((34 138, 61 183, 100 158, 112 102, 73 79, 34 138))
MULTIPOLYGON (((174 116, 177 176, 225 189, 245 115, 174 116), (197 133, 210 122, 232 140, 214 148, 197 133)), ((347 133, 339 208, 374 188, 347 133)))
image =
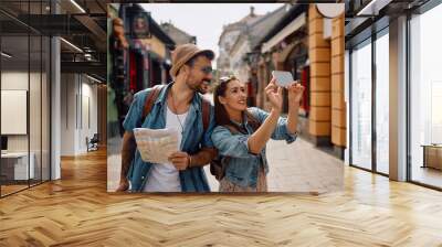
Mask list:
MULTIPOLYGON (((269 192, 330 192, 343 187, 343 161, 317 150, 301 138, 292 144, 270 140, 267 143, 269 192)), ((212 191, 218 191, 218 181, 209 174, 212 191)))

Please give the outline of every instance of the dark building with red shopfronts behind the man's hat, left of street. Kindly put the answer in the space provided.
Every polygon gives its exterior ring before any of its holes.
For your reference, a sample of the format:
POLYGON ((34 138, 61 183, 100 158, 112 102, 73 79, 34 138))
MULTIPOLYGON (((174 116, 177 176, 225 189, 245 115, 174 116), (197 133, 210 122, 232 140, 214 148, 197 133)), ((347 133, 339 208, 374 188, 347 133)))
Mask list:
POLYGON ((140 4, 113 3, 109 9, 112 29, 118 30, 116 19, 123 25, 123 34, 113 32, 109 36, 109 97, 114 100, 108 103, 108 109, 117 115, 117 120, 109 125, 109 135, 123 137, 123 121, 134 95, 171 82, 170 51, 176 43, 140 4))

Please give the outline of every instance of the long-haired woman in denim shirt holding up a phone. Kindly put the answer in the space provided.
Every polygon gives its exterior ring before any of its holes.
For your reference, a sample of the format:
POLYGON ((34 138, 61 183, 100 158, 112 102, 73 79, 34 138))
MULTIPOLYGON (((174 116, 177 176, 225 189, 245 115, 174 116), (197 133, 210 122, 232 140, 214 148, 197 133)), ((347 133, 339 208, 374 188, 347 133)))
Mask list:
POLYGON ((248 108, 245 86, 233 76, 220 79, 213 94, 217 127, 212 141, 222 157, 225 175, 220 192, 266 192, 269 172, 265 144, 270 138, 296 139, 297 114, 304 87, 293 84, 288 90, 288 115, 281 118, 282 87, 272 79, 265 88, 272 110, 248 108))

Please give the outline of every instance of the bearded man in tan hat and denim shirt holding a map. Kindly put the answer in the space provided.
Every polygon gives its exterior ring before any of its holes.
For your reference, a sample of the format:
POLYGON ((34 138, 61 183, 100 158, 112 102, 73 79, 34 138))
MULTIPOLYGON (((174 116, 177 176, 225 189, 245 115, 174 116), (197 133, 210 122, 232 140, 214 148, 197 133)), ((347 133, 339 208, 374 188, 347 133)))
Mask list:
POLYGON ((135 95, 124 121, 125 135, 122 149, 122 174, 117 191, 134 192, 209 192, 202 167, 217 154, 211 141, 214 128, 213 110, 203 129, 201 85, 212 79, 211 61, 214 53, 199 50, 193 44, 178 46, 172 53, 170 75, 173 83, 158 93, 149 115, 141 119, 143 109, 152 88, 135 95), (177 128, 180 150, 169 157, 170 163, 144 162, 136 150, 134 128, 177 128), (134 155, 135 153, 135 155, 134 155), (133 160, 133 162, 131 162, 133 160), (130 168, 130 169, 129 169, 130 168))

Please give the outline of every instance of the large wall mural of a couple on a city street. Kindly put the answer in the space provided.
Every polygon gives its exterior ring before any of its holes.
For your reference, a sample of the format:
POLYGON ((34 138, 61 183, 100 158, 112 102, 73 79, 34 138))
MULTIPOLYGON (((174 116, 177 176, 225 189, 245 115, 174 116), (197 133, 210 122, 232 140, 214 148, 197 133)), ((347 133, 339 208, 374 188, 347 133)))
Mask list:
MULTIPOLYGON (((250 13, 238 19, 225 14, 217 15, 217 18, 225 18, 223 22, 230 24, 220 26, 222 33, 217 34, 215 39, 219 40, 215 44, 218 46, 209 47, 210 51, 199 43, 192 44, 197 40, 198 42, 204 42, 204 40, 197 37, 197 33, 189 34, 179 30, 177 26, 181 23, 173 23, 173 20, 165 22, 159 18, 154 20, 152 17, 157 18, 159 12, 166 11, 161 8, 177 8, 177 11, 180 11, 179 4, 134 3, 113 7, 114 14, 108 23, 113 23, 112 35, 109 35, 109 44, 113 45, 109 54, 113 58, 109 66, 114 71, 109 72, 112 75, 109 83, 110 93, 114 93, 115 97, 109 97, 108 104, 115 103, 118 111, 119 135, 108 137, 107 189, 109 192, 319 193, 341 189, 341 161, 334 158, 327 159, 326 153, 311 155, 317 158, 316 161, 308 160, 307 162, 297 159, 301 152, 305 152, 305 150, 301 151, 302 147, 306 147, 306 140, 302 140, 301 135, 298 136, 297 126, 301 124, 297 119, 304 117, 306 121, 309 120, 307 103, 311 94, 319 95, 317 92, 305 90, 311 79, 309 61, 316 63, 315 65, 320 62, 311 57, 311 54, 314 54, 314 58, 317 58, 320 51, 308 44, 311 28, 308 13, 314 14, 317 23, 323 23, 323 17, 314 9, 314 6, 273 3, 269 10, 261 10, 259 13, 251 4, 220 4, 217 8, 224 8, 223 11, 229 12, 241 7, 250 10, 250 13), (192 37, 191 41, 180 43, 189 37, 192 37), (220 51, 220 57, 215 57, 212 52, 217 50, 220 51), (197 62, 198 57, 202 57, 197 54, 204 54, 204 62, 197 62), (191 62, 191 58, 196 61, 191 62), (217 69, 214 69, 215 61, 218 62, 217 69), (191 69, 181 69, 187 66, 191 69), (298 80, 299 84, 291 82, 291 87, 278 88, 278 85, 272 80, 272 71, 290 72, 294 80, 298 80), (222 78, 224 75, 227 77, 222 78), (227 87, 231 83, 243 87, 245 98, 240 103, 244 107, 241 114, 240 114, 240 116, 248 118, 244 129, 225 127, 222 120, 231 124, 231 115, 222 115, 219 111, 220 107, 211 108, 210 106, 221 104, 219 97, 225 97, 223 94, 229 94, 227 92, 230 90, 227 88, 224 93, 215 89, 221 87, 222 82, 228 85, 227 87), (207 84, 210 86, 206 86, 207 84), (154 87, 157 85, 158 87, 154 87), (173 93, 178 88, 177 85, 187 85, 187 87, 181 87, 179 92, 173 93), (146 88, 157 89, 145 90, 146 88), (175 97, 186 95, 185 93, 191 93, 189 95, 192 96, 192 100, 177 104, 175 97), (134 95, 137 97, 133 97, 134 95), (246 140, 255 132, 261 132, 257 131, 260 128, 266 128, 263 127, 267 125, 264 119, 270 117, 272 107, 278 107, 274 97, 278 98, 277 103, 281 101, 281 109, 275 111, 280 112, 277 116, 272 116, 276 119, 275 126, 272 127, 273 135, 266 137, 255 151, 253 148, 250 149, 248 141, 240 141, 240 143, 232 141, 232 138, 240 136, 246 140), (214 100, 206 103, 202 98, 214 100), (193 106, 194 101, 199 104, 193 106), (165 104, 168 107, 159 108, 165 104), (188 111, 178 114, 177 109, 186 104, 193 107, 189 106, 188 111), (252 106, 262 109, 251 108, 252 106), (191 116, 193 111, 190 109, 199 109, 199 107, 201 107, 201 110, 198 110, 199 114, 196 117, 191 116), (211 111, 204 110, 203 107, 214 110, 215 117, 210 118, 207 112, 211 111), (175 128, 181 131, 173 131, 175 128), (218 131, 215 131, 217 128, 218 131), (219 128, 228 128, 224 136, 220 136, 219 128), (221 139, 230 140, 232 144, 223 146, 221 139), (152 154, 151 150, 158 150, 157 144, 162 149, 152 154), (175 147, 173 152, 170 152, 171 147, 175 147), (235 148, 230 150, 229 147, 235 148), (219 153, 217 159, 214 159, 215 152, 219 153), (306 168, 308 168, 306 174, 296 172, 304 171, 306 168)), ((192 8, 201 13, 210 11, 204 9, 203 4, 194 4, 192 8)), ((168 11, 170 12, 171 9, 166 12, 168 11)), ((344 14, 336 19, 344 20, 344 14)), ((194 29, 197 25, 207 28, 214 23, 209 21, 194 23, 188 30, 198 32, 194 29)), ((203 36, 201 33, 198 35, 203 36)), ((330 46, 332 41, 322 36, 322 33, 317 34, 318 40, 322 39, 322 42, 330 46)), ((344 55, 339 58, 344 62, 344 55)), ((323 71, 330 71, 325 67, 330 66, 329 62, 322 63, 323 71)), ((316 75, 323 73, 317 69, 314 72, 316 75)), ((323 77, 326 78, 322 82, 330 83, 330 75, 323 75, 323 77)), ((330 92, 322 92, 320 96, 326 94, 330 92)), ((319 112, 317 108, 315 110, 315 114, 319 112)), ((320 114, 323 112, 326 111, 322 110, 320 114)), ((114 124, 109 119, 108 125, 114 124)), ((309 151, 317 150, 312 148, 309 151)))

